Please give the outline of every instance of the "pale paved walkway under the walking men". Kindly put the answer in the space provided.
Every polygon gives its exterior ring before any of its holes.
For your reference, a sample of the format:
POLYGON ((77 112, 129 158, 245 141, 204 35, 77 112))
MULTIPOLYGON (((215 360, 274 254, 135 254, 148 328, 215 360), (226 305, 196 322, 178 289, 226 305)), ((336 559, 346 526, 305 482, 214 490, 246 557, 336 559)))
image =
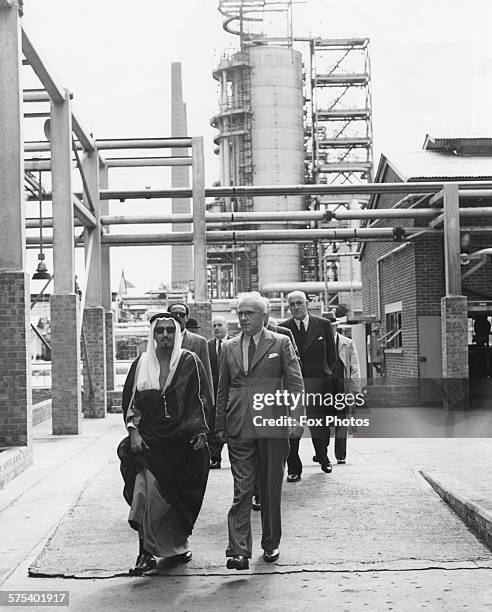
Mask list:
POLYGON ((33 467, 0 491, 1 590, 69 590, 73 610, 492 608, 491 552, 419 473, 492 501, 489 439, 349 440, 347 465, 331 475, 312 463, 303 440, 303 479, 284 488, 281 558, 263 563, 254 514, 244 573, 224 567, 225 465, 210 473, 190 566, 130 578, 136 538, 114 454, 121 416, 83 426, 77 437, 36 427, 33 467), (63 577, 29 577, 29 568, 63 577))

